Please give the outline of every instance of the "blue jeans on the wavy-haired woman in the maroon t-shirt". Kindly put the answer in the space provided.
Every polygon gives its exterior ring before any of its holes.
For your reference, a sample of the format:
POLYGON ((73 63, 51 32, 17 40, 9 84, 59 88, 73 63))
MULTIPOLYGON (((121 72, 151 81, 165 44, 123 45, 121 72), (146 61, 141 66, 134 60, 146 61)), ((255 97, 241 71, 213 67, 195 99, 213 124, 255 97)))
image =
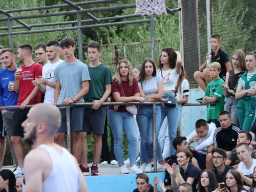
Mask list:
POLYGON ((114 152, 118 165, 121 166, 123 162, 123 130, 128 139, 128 156, 130 165, 136 164, 137 153, 137 127, 134 117, 129 112, 117 112, 108 109, 108 120, 114 136, 114 152))

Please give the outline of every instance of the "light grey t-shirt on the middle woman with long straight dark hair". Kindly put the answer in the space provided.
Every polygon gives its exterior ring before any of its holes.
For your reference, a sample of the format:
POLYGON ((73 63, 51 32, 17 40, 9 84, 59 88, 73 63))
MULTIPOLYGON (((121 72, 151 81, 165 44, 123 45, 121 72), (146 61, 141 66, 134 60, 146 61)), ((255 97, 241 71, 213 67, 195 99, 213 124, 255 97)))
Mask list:
POLYGON ((142 91, 145 95, 152 95, 152 94, 156 94, 158 91, 158 85, 157 83, 159 83, 160 81, 162 81, 162 77, 157 75, 157 76, 152 76, 152 79, 149 81, 141 81, 138 82, 138 86, 142 87, 142 91), (142 83, 142 86, 141 86, 142 83))

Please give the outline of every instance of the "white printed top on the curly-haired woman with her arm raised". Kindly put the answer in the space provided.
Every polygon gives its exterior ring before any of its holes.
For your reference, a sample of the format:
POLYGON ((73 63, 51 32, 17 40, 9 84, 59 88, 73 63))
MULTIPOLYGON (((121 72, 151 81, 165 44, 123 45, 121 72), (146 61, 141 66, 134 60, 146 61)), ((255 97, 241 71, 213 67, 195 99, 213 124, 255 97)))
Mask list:
POLYGON ((163 90, 174 91, 180 74, 176 72, 175 68, 168 69, 167 71, 162 70, 162 74, 161 70, 157 69, 157 75, 160 75, 163 78, 163 90))

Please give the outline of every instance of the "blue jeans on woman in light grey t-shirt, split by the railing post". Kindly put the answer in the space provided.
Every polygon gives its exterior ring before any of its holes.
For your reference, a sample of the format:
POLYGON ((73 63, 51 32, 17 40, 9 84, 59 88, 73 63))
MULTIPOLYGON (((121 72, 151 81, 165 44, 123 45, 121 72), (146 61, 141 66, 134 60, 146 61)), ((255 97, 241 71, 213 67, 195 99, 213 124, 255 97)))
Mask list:
MULTIPOLYGON (((138 110, 137 123, 140 131, 140 158, 144 163, 150 163, 153 158, 153 117, 152 106, 144 105, 142 109, 138 110)), ((157 160, 162 161, 162 151, 158 140, 160 131, 160 106, 156 105, 156 132, 157 132, 157 160)))

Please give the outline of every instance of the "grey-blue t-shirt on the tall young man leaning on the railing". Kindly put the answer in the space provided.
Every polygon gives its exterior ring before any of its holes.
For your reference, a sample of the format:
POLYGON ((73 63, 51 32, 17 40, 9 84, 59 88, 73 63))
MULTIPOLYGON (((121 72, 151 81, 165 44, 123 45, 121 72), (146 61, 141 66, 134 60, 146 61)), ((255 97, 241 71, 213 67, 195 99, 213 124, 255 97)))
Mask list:
MULTIPOLYGON (((59 81, 61 89, 57 103, 62 103, 63 99, 72 98, 82 89, 82 81, 88 81, 90 75, 87 65, 77 60, 74 63, 63 61, 54 71, 53 79, 59 81)), ((83 97, 76 102, 83 102, 83 97)))

